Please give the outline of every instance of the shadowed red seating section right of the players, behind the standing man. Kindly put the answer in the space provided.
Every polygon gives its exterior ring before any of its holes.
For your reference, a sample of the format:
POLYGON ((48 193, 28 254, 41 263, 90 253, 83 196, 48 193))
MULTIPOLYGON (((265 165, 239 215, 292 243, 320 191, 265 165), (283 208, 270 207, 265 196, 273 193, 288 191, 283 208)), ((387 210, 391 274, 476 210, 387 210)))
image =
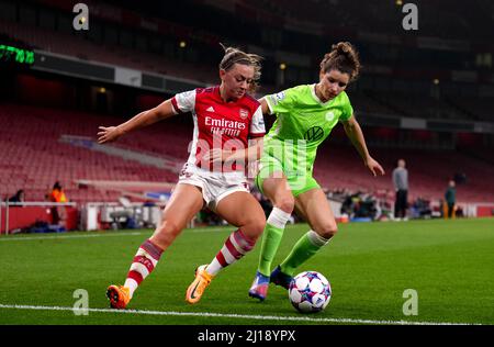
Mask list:
MULTIPOLYGON (((486 179, 492 175, 492 163, 458 154, 454 150, 424 152, 390 148, 372 148, 371 150, 388 174, 395 167, 397 158, 406 158, 409 171, 409 201, 417 198, 441 199, 445 182, 453 178, 457 172, 463 172, 468 177, 465 183, 457 187, 461 202, 494 200, 494 181, 486 179)), ((350 191, 368 193, 393 190, 389 176, 379 178, 369 176, 352 147, 329 144, 321 148, 317 156, 315 177, 328 189, 344 187, 350 191)))

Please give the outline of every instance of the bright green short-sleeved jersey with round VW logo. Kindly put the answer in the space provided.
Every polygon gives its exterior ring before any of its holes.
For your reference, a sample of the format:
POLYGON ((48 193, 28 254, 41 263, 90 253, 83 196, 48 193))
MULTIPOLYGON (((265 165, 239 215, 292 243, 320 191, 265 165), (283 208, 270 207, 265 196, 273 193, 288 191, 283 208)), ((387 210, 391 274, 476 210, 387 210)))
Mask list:
POLYGON ((317 147, 338 121, 348 121, 353 114, 345 91, 322 102, 315 85, 293 87, 265 99, 270 113, 277 114, 265 137, 265 155, 283 163, 287 176, 312 172, 317 147))

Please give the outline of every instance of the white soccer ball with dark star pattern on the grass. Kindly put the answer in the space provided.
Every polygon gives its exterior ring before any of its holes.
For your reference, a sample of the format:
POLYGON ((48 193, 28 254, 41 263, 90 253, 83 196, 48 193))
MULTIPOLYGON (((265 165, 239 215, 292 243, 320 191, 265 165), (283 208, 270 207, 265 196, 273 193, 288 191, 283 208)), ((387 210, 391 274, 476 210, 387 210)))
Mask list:
POLYGON ((321 312, 326 309, 330 298, 332 286, 319 272, 304 271, 290 282, 289 299, 299 312, 321 312))

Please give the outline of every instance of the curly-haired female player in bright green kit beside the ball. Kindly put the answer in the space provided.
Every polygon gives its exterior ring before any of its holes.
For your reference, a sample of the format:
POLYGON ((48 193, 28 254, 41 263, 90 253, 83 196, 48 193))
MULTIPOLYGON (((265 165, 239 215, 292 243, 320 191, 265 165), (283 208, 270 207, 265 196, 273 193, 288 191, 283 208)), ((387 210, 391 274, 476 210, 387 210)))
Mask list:
POLYGON ((313 257, 336 234, 337 225, 321 186, 313 178, 317 147, 341 122, 363 164, 375 177, 384 175, 367 148, 362 131, 345 89, 359 74, 357 52, 348 42, 333 45, 321 61, 319 81, 270 94, 261 99, 262 113, 277 121, 263 142, 256 184, 273 204, 262 236, 259 268, 249 295, 265 300, 268 284, 288 288, 295 269, 313 257), (284 226, 293 210, 311 230, 293 246, 271 272, 284 226))

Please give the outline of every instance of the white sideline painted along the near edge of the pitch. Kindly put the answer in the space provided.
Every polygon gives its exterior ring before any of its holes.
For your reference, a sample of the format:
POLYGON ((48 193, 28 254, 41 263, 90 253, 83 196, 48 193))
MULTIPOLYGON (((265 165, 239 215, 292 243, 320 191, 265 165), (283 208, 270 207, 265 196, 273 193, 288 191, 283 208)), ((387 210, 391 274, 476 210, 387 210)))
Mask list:
POLYGON ((237 320, 290 321, 290 322, 313 322, 313 323, 347 323, 347 324, 374 324, 374 325, 482 325, 479 323, 373 321, 373 320, 353 320, 353 318, 313 318, 313 317, 304 317, 304 316, 295 317, 295 316, 276 316, 276 315, 226 314, 226 313, 211 313, 211 312, 74 309, 74 307, 63 307, 63 306, 31 306, 31 305, 5 305, 5 304, 0 304, 0 309, 35 310, 35 311, 72 311, 72 312, 81 310, 81 311, 97 312, 97 313, 199 316, 199 317, 207 316, 207 317, 237 318, 237 320))

